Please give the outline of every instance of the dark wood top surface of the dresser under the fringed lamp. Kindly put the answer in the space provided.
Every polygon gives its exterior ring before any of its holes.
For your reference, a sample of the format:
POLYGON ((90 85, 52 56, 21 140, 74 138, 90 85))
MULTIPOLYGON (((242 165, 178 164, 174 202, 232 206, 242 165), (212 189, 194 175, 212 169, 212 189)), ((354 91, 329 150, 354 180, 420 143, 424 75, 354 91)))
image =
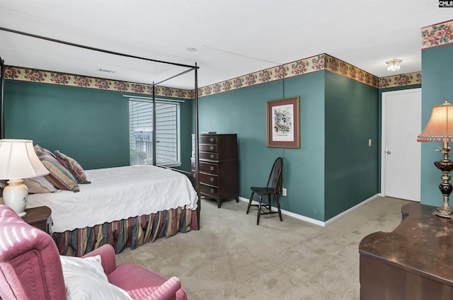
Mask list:
POLYGON ((363 238, 360 255, 453 286, 453 220, 433 215, 434 209, 405 204, 401 224, 390 233, 380 231, 363 238))

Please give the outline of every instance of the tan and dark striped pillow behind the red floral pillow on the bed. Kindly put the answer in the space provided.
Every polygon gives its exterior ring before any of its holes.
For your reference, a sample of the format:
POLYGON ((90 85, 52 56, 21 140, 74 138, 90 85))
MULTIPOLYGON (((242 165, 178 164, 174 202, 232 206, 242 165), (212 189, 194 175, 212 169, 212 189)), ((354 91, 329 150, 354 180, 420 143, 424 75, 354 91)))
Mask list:
POLYGON ((35 146, 36 155, 38 155, 42 164, 50 172, 49 174, 44 175, 44 177, 59 190, 79 192, 79 185, 77 185, 74 176, 57 161, 57 158, 55 158, 52 152, 42 148, 40 150, 37 146, 35 146))

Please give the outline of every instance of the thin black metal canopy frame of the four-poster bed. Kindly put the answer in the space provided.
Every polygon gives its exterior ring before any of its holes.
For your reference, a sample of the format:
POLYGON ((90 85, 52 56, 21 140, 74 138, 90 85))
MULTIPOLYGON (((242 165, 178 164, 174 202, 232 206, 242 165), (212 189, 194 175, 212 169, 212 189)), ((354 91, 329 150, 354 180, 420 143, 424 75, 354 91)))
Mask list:
MULTIPOLYGON (((47 40, 47 41, 50 41, 50 42, 57 42, 59 44, 64 44, 64 45, 69 45, 69 46, 73 46, 73 47, 79 47, 79 48, 83 48, 83 49, 86 49, 86 50, 93 50, 93 51, 96 51, 96 52, 103 52, 103 53, 107 53, 107 54, 113 54, 113 55, 117 55, 117 56, 121 56, 121 57, 130 57, 130 58, 134 58, 134 59, 141 59, 141 60, 145 60, 145 61, 148 61, 148 62, 157 62, 159 64, 170 64, 170 65, 173 65, 173 66, 177 66, 177 67, 185 67, 185 68, 188 68, 187 70, 179 73, 179 74, 176 74, 174 76, 171 76, 171 77, 168 77, 167 79, 164 79, 162 81, 159 81, 157 83, 154 83, 152 84, 152 93, 153 93, 153 131, 154 131, 154 128, 156 127, 156 85, 158 84, 161 84, 161 83, 164 83, 165 81, 168 81, 170 79, 173 79, 173 78, 176 78, 178 76, 181 76, 183 74, 186 74, 186 73, 189 73, 190 71, 195 71, 195 87, 194 87, 194 94, 195 94, 195 176, 196 178, 199 178, 199 175, 200 175, 200 168, 199 168, 199 154, 198 154, 198 69, 200 67, 197 66, 197 63, 195 63, 195 66, 191 66, 191 65, 188 65, 188 64, 178 64, 176 62, 166 62, 166 61, 163 61, 163 60, 158 60, 158 59, 149 59, 147 57, 138 57, 138 56, 135 56, 135 55, 130 55, 130 54, 124 54, 124 53, 120 53, 120 52, 113 52, 113 51, 110 51, 110 50, 103 50, 103 49, 99 49, 99 48, 95 48, 95 47, 89 47, 89 46, 85 46, 85 45, 79 45, 79 44, 75 44, 73 42, 66 42, 66 41, 63 41, 63 40, 56 40, 54 38, 51 38, 51 37, 44 37, 44 36, 41 36, 41 35, 34 35, 32 33, 24 33, 23 31, 18 31, 18 30, 13 30, 13 29, 9 29, 9 28, 4 28, 4 27, 0 27, 0 30, 3 30, 3 31, 7 31, 9 33, 16 33, 18 35, 25 35, 25 36, 28 36, 28 37, 35 37, 35 38, 38 38, 38 39, 41 39, 41 40, 47 40)), ((5 82, 5 64, 4 64, 4 60, 1 59, 0 57, 0 65, 1 65, 1 78, 0 78, 0 139, 4 139, 5 138, 5 121, 4 121, 4 82, 5 82)), ((153 139, 153 165, 156 166, 156 139, 153 139)), ((200 228, 200 210, 201 210, 201 207, 200 207, 200 204, 201 204, 201 201, 200 201, 200 181, 199 180, 196 180, 196 183, 195 183, 195 189, 197 190, 197 197, 198 197, 198 200, 197 200, 197 222, 198 222, 198 228, 200 228)))

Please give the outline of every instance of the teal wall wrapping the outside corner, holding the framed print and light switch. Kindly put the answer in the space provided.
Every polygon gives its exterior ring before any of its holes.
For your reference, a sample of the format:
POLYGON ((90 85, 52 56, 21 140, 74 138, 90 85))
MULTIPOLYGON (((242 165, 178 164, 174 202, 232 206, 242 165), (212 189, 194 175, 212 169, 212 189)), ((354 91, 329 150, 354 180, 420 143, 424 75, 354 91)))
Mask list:
POLYGON ((326 221, 378 192, 379 93, 329 71, 200 98, 200 132, 237 133, 239 195, 283 157, 282 209, 326 221), (301 148, 266 146, 266 101, 300 97, 301 148), (374 141, 368 147, 368 139, 374 141))

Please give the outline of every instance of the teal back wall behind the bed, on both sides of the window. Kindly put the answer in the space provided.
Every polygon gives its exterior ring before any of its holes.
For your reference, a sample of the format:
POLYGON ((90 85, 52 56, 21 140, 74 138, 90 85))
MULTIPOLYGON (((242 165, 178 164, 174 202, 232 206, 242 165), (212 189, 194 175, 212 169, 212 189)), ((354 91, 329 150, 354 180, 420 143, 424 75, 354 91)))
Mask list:
MULTIPOLYGON (((4 100, 6 138, 58 149, 86 169, 129 165, 129 105, 122 93, 6 80, 4 100)), ((191 147, 190 100, 180 112, 185 153, 191 147)), ((181 168, 190 170, 190 158, 181 168)))

